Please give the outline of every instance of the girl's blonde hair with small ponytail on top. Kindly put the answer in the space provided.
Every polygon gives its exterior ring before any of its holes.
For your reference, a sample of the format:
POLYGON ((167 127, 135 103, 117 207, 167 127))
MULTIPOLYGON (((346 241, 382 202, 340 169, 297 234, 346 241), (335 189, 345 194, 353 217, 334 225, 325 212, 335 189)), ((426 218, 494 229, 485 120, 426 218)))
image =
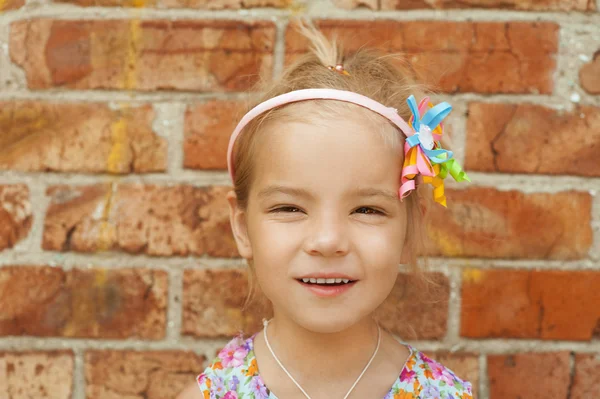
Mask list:
MULTIPOLYGON (((388 107, 396 108, 399 115, 408 120, 410 110, 406 99, 414 94, 421 98, 424 94, 424 86, 417 84, 414 80, 414 73, 410 66, 401 56, 383 55, 374 49, 362 48, 357 52, 345 54, 336 43, 335 38, 327 39, 319 30, 307 23, 299 23, 297 29, 308 39, 311 45, 311 51, 290 65, 282 76, 267 86, 259 86, 259 98, 248 109, 268 100, 269 98, 294 91, 309 88, 329 88, 338 90, 348 90, 370 97, 388 107), (342 64, 344 69, 349 72, 343 75, 331 71, 328 67, 335 67, 342 64)), ((311 121, 313 117, 327 118, 336 115, 339 112, 348 112, 351 110, 354 114, 357 112, 360 116, 377 120, 379 123, 383 118, 369 110, 357 110, 359 108, 353 104, 346 104, 331 100, 310 100, 304 103, 290 104, 283 107, 265 112, 252 120, 244 129, 233 149, 234 158, 234 190, 237 196, 238 205, 241 209, 248 206, 248 196, 250 187, 254 178, 254 162, 257 149, 262 144, 260 136, 265 131, 265 127, 275 121, 282 120, 300 120, 311 121), (310 103, 308 105, 307 103, 310 103), (316 105, 316 106, 315 106, 316 105), (311 112, 306 112, 306 107, 312 106, 311 112), (355 107, 355 108, 349 108, 355 107), (304 112, 299 112, 300 110, 304 112), (380 118, 380 119, 377 119, 380 118)), ((382 138, 391 146, 399 149, 404 145, 404 135, 390 123, 385 121, 385 126, 379 129, 382 138)), ((398 151, 402 154, 402 151, 398 151)), ((399 177, 398 177, 399 178, 399 177)), ((407 234, 405 245, 410 248, 411 261, 409 269, 411 273, 421 277, 419 281, 431 283, 417 266, 417 257, 423 247, 424 241, 424 212, 422 207, 425 198, 430 198, 430 193, 422 193, 426 188, 418 186, 404 201, 407 206, 407 234), (428 195, 429 194, 429 195, 428 195)), ((255 294, 260 289, 256 284, 256 274, 252 261, 248 261, 250 273, 249 294, 244 305, 244 309, 253 302, 255 294)), ((260 297, 257 305, 262 311, 266 311, 268 306, 264 296, 260 297)))

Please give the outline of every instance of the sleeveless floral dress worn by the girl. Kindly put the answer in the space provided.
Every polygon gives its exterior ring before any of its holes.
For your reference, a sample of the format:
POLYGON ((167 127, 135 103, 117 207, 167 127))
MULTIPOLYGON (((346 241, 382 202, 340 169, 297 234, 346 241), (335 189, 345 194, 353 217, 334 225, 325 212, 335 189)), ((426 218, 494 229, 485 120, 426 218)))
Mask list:
MULTIPOLYGON (((254 337, 240 334, 197 377, 204 399, 278 399, 258 373, 254 337)), ((471 384, 405 344, 410 355, 383 399, 472 399, 471 384)))

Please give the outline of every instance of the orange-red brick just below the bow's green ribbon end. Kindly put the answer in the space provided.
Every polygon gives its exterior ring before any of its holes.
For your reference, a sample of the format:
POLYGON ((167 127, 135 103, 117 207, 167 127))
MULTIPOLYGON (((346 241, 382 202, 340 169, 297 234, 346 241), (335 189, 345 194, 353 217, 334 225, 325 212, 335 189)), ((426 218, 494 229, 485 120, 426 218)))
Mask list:
POLYGON ((430 255, 583 259, 592 245, 588 193, 524 194, 489 187, 447 190, 430 210, 430 255))

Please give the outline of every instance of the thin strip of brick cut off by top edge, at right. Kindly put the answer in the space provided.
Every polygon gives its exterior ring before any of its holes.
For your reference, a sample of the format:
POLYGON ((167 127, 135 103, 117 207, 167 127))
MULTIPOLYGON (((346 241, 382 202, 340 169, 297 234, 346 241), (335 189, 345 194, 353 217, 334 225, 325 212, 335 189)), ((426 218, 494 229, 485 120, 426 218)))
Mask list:
POLYGON ((333 0, 338 7, 371 10, 409 10, 422 8, 499 8, 528 11, 594 11, 593 0, 333 0))

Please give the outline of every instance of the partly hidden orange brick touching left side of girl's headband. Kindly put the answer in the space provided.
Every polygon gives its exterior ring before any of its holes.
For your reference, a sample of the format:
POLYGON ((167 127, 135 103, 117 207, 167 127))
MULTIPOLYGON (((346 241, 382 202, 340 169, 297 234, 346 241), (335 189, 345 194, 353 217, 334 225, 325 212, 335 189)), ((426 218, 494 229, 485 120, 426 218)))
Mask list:
POLYGON ((227 169, 229 136, 245 110, 241 101, 212 100, 185 113, 184 161, 190 169, 227 169))

